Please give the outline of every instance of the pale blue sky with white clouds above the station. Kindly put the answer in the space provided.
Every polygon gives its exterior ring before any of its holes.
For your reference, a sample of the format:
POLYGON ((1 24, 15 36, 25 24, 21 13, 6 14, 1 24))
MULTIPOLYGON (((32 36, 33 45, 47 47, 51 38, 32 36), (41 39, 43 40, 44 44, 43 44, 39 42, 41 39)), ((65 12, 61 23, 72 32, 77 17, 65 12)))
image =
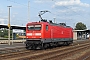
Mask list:
POLYGON ((77 22, 86 24, 90 29, 90 0, 0 0, 0 24, 8 24, 8 7, 11 7, 11 25, 26 25, 27 22, 39 21, 38 13, 47 20, 56 19, 75 27, 77 22), (28 1, 30 1, 30 20, 28 21, 28 1))

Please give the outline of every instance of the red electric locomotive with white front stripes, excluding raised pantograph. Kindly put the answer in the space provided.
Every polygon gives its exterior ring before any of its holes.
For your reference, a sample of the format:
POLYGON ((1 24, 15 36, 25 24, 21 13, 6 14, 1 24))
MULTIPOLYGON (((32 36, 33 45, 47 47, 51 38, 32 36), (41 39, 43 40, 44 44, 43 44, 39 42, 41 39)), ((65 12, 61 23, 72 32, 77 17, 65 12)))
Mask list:
POLYGON ((45 20, 26 25, 26 48, 42 49, 73 42, 73 29, 65 24, 56 24, 45 20))

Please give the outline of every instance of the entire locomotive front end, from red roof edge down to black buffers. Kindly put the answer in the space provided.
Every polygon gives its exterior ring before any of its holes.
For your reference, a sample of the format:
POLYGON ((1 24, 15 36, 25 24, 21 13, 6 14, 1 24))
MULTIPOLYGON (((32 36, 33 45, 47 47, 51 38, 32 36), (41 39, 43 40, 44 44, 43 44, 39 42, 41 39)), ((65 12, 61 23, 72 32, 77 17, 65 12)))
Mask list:
POLYGON ((39 49, 42 45, 42 24, 29 23, 26 28, 26 48, 39 49))

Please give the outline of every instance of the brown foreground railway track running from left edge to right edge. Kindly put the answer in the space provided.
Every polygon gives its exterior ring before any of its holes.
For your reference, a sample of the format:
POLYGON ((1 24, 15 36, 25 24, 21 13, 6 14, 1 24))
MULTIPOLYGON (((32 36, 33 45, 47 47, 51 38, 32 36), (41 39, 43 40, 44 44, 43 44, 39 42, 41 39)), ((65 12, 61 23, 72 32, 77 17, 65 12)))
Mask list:
POLYGON ((10 53, 10 54, 3 54, 0 55, 0 60, 47 60, 47 59, 55 59, 56 57, 67 56, 67 54, 83 50, 87 47, 90 47, 90 43, 80 44, 80 45, 73 45, 67 47, 58 47, 54 49, 47 49, 47 50, 27 50, 23 52, 17 53, 10 53))

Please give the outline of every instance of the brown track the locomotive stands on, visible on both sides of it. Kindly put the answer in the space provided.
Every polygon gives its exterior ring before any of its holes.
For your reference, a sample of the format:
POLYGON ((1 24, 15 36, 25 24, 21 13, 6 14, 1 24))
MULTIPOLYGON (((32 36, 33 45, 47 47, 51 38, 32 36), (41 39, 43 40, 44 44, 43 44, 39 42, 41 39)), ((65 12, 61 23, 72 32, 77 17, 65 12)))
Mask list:
MULTIPOLYGON (((89 42, 89 40, 82 41, 82 42, 74 41, 74 43, 72 45, 83 44, 85 42, 89 42)), ((26 50, 25 47, 5 48, 5 49, 0 49, 0 55, 1 54, 9 54, 9 53, 21 52, 21 51, 25 51, 25 50, 26 50)))

